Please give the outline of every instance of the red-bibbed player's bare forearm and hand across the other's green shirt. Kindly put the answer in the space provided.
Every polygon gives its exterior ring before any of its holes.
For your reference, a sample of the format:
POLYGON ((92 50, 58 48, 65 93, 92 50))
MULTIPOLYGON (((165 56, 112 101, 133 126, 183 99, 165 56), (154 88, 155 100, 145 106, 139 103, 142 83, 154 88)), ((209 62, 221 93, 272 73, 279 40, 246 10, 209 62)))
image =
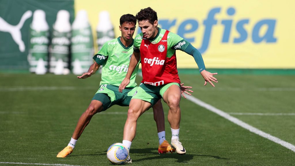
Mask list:
POLYGON ((127 74, 119 86, 119 92, 122 92, 122 90, 125 89, 125 87, 130 83, 130 77, 139 61, 140 61, 140 52, 133 51, 127 74))

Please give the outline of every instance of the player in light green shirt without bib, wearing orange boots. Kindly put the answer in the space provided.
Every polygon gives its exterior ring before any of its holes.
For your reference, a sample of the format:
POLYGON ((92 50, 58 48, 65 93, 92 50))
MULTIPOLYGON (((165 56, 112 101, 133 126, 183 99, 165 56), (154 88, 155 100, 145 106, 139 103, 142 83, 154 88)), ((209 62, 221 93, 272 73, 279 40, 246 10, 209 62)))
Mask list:
MULTIPOLYGON (((79 118, 68 146, 60 151, 57 157, 66 157, 73 152, 76 141, 81 136, 93 115, 110 108, 112 105, 129 106, 132 95, 137 88, 135 76, 137 74, 138 64, 136 69, 132 72, 131 83, 123 90, 123 93, 119 93, 118 88, 128 71, 128 65, 133 52, 134 40, 132 37, 135 32, 135 25, 136 19, 132 14, 123 15, 120 18, 119 26, 121 37, 106 42, 101 50, 93 57, 95 62, 89 67, 88 72, 84 73, 82 76, 78 76, 79 79, 86 79, 94 74, 100 66, 103 66, 100 88, 92 98, 87 110, 79 118)), ((182 88, 183 90, 192 92, 186 89, 191 87, 182 88)), ((190 93, 184 92, 190 95, 190 93)), ((161 141, 160 145, 162 145, 161 148, 164 148, 164 153, 166 153, 167 151, 171 151, 172 148, 170 144, 165 141, 165 121, 161 102, 158 102, 155 107, 153 107, 153 111, 154 119, 157 124, 159 141, 161 141)), ((131 160, 128 159, 128 162, 131 162, 131 160)))

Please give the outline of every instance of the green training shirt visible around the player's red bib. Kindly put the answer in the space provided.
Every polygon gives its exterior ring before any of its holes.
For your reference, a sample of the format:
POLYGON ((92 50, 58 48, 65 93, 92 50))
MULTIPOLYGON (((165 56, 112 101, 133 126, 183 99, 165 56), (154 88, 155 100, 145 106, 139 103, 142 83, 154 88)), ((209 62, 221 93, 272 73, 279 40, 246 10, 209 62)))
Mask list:
MULTIPOLYGON (((152 44, 160 42, 160 40, 163 38, 165 32, 166 32, 165 29, 158 28, 158 34, 155 36, 155 38, 150 39, 150 42, 152 44)), ((140 48, 142 38, 143 38, 142 32, 140 34, 136 35, 136 37, 135 37, 133 49, 137 53, 140 52, 139 48, 140 48)), ((170 58, 175 53, 176 50, 184 51, 189 44, 190 43, 188 41, 184 40, 179 35, 177 35, 173 32, 169 32, 168 36, 167 36, 167 46, 168 46, 167 58, 170 58)))

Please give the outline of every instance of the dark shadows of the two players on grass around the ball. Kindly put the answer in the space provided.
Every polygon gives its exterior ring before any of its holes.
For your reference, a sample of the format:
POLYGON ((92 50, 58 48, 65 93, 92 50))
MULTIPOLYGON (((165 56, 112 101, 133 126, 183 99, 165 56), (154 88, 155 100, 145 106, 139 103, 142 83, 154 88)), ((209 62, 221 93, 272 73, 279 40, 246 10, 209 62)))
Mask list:
MULTIPOLYGON (((75 157, 75 156, 106 156, 106 151, 104 152, 95 152, 94 154, 81 154, 81 155, 69 155, 68 157, 75 157)), ((189 154, 186 153, 184 155, 179 155, 177 153, 167 153, 167 154, 158 154, 155 148, 145 148, 145 149, 131 149, 131 159, 132 162, 139 162, 145 160, 155 160, 155 159, 163 159, 163 158, 171 158, 177 159, 176 162, 187 163, 192 160, 195 156, 200 157, 213 157, 218 160, 230 160, 229 158, 223 158, 214 155, 204 155, 204 154, 189 154), (132 157, 134 156, 134 157, 132 157)))

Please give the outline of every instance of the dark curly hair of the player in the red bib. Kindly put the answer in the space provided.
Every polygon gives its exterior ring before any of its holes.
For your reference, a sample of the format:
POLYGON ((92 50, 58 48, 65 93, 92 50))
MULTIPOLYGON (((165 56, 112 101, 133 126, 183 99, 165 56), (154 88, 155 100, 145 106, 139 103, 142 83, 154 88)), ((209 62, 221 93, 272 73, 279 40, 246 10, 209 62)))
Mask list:
POLYGON ((135 16, 137 21, 148 20, 151 24, 158 20, 157 12, 152 8, 148 7, 145 9, 141 9, 135 16))

